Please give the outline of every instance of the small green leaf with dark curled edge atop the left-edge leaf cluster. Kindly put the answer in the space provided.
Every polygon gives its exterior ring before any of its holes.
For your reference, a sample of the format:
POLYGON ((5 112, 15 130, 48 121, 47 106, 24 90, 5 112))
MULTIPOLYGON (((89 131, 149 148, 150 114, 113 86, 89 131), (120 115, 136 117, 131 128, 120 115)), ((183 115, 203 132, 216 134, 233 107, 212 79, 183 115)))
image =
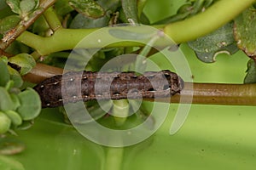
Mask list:
POLYGON ((20 75, 26 75, 36 65, 35 59, 30 54, 17 54, 9 62, 20 66, 20 75))

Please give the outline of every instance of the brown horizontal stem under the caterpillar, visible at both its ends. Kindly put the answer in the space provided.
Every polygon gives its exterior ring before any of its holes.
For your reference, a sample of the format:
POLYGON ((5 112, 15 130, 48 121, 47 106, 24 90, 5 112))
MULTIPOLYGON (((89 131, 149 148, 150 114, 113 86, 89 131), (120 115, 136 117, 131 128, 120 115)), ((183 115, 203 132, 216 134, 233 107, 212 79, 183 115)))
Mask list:
MULTIPOLYGON (((49 65, 37 64, 23 77, 28 82, 38 83, 44 79, 62 74, 63 70, 49 65)), ((256 105, 256 83, 218 84, 186 82, 182 94, 172 96, 172 103, 191 103, 202 105, 256 105), (193 87, 193 88, 192 88, 193 87), (182 99, 181 99, 182 97, 182 99)), ((168 99, 144 99, 166 102, 168 99)))

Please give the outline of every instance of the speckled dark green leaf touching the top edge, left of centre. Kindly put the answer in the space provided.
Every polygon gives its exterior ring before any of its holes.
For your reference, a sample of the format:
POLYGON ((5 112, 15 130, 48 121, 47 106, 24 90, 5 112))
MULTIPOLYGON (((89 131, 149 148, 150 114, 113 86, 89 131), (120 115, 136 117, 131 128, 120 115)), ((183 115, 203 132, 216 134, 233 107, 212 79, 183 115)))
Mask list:
POLYGON ((102 6, 93 0, 75 0, 69 1, 69 4, 80 14, 91 18, 100 18, 105 14, 105 10, 102 6))

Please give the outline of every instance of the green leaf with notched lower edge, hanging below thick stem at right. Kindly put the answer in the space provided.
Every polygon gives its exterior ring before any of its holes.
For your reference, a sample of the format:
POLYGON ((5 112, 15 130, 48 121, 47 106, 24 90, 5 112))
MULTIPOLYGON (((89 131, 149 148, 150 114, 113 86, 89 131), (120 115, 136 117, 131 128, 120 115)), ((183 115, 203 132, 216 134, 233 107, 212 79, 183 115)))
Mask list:
POLYGON ((218 54, 234 54, 236 48, 233 37, 233 24, 229 23, 205 37, 200 37, 194 42, 188 42, 189 47, 195 50, 198 59, 206 63, 215 61, 218 54))

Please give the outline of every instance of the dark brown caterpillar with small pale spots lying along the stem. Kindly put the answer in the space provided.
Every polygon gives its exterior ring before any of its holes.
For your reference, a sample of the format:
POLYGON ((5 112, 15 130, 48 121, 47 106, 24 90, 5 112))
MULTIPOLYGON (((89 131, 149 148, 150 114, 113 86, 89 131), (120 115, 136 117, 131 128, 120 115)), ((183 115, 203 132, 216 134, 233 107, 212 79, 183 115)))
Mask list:
POLYGON ((34 87, 43 108, 91 99, 171 97, 182 88, 183 80, 172 71, 147 71, 142 76, 135 72, 71 71, 34 87))

